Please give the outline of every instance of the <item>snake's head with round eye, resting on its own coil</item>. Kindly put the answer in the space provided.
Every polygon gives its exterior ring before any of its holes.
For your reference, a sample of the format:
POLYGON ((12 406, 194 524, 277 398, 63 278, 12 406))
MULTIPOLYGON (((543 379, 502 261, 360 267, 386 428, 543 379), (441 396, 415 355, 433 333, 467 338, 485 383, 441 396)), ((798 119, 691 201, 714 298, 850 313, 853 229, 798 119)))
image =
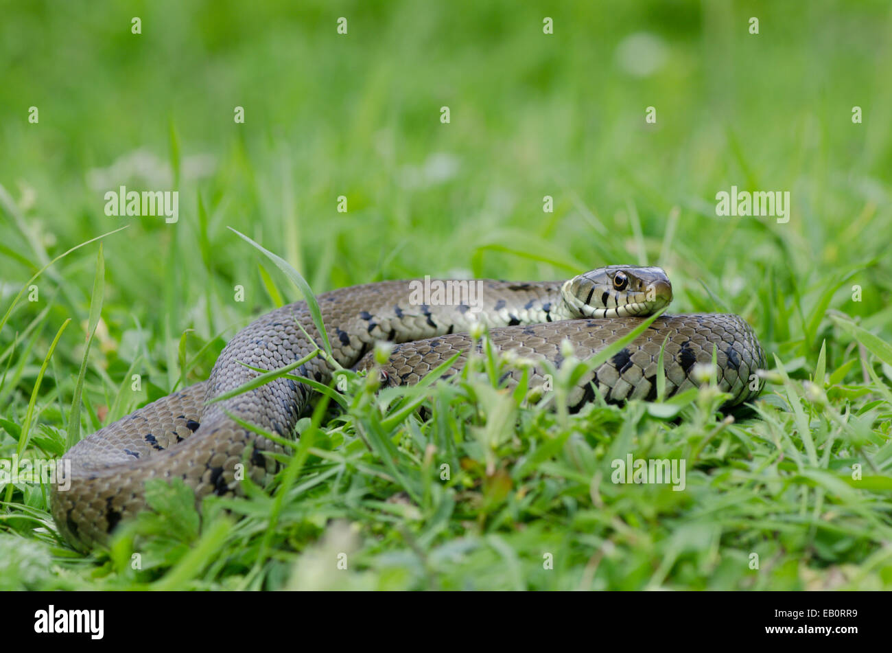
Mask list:
POLYGON ((662 268, 608 265, 573 277, 561 294, 575 317, 644 317, 672 302, 672 284, 662 268))

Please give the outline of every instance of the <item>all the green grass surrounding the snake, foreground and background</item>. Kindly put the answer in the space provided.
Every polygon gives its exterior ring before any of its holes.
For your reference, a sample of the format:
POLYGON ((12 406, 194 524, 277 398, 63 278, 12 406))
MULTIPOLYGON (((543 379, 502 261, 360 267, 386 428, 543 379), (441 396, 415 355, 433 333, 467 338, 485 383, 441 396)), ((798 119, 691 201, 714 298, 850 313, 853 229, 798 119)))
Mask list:
POLYGON ((107 552, 57 539, 41 485, 0 487, 0 588, 892 587, 887 3, 247 7, 4 9, 0 457, 58 457, 206 378, 299 297, 227 227, 316 293, 659 264, 673 312, 750 321, 769 383, 729 424, 708 386, 528 406, 495 360, 420 389, 351 378, 267 492, 199 517, 155 485, 107 552), (664 48, 646 77, 617 59, 635 32, 664 48), (120 184, 177 188, 178 223, 105 216, 120 184), (731 185, 789 190, 789 223, 716 217, 731 185), (611 483, 628 453, 684 459, 685 490, 611 483))

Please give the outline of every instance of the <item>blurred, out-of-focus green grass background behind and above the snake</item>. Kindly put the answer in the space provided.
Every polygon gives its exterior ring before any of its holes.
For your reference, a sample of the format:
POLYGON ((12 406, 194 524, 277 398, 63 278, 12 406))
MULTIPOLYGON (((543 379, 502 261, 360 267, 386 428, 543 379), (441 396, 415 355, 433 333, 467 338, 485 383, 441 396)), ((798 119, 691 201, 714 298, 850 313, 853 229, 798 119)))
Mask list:
MULTIPOLYGON (((892 336, 888 2, 162 0, 2 13, 0 184, 15 208, 0 204, 0 303, 55 255, 128 225, 104 241, 87 374, 97 405, 133 365, 150 379, 120 414, 169 393, 186 329, 190 354, 212 345, 191 381, 272 308, 227 226, 316 292, 657 263, 674 311, 739 312, 791 372, 814 366, 823 338, 829 369, 853 351, 822 319, 828 306, 892 336), (178 189, 178 223, 105 216, 103 194, 120 185, 178 189), (717 218, 715 194, 731 185, 789 191, 789 223, 717 218)), ((54 401, 70 401, 94 272, 95 244, 40 277, 41 301, 22 302, 0 334, 11 419, 74 318, 47 373, 59 397, 40 403, 41 420, 64 426, 54 401), (33 335, 27 355, 8 349, 17 333, 33 335)))

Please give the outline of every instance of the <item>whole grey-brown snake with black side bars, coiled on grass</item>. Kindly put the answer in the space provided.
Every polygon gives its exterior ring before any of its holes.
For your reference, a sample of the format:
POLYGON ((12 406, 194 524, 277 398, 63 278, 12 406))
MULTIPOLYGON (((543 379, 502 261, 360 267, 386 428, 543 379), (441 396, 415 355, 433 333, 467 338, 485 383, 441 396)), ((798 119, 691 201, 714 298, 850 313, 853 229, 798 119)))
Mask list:
MULTIPOLYGON (((460 283, 460 282, 459 282, 460 283)), ((467 284, 467 281, 464 282, 467 284)), ((384 384, 413 384, 461 352, 447 370, 462 367, 474 346, 467 330, 489 329, 493 346, 533 361, 559 364, 562 343, 573 345, 581 360, 628 334, 648 315, 672 300, 672 285, 659 268, 608 266, 566 282, 475 280, 474 305, 420 303, 417 282, 384 281, 341 288, 318 295, 335 360, 344 368, 374 366, 377 341, 395 343, 382 366, 384 384)), ((276 369, 316 349, 304 335, 321 342, 305 302, 295 302, 258 318, 237 333, 221 351, 207 381, 153 401, 127 417, 104 426, 78 442, 70 459, 70 489, 54 486, 51 496, 56 525, 80 549, 107 540, 121 520, 145 508, 145 481, 182 478, 196 500, 216 493, 239 492, 236 465, 264 483, 275 462, 264 451, 281 450, 267 438, 239 426, 227 412, 269 432, 290 436, 313 398, 308 384, 277 378, 225 401, 207 403, 246 383, 255 368, 276 369), (299 326, 300 325, 300 326, 299 326), (301 327, 303 330, 301 330, 301 327)), ((715 347, 719 387, 731 393, 729 405, 753 399, 760 391, 751 375, 764 368, 764 352, 747 322, 736 315, 698 313, 662 315, 632 343, 583 376, 568 398, 571 409, 594 396, 607 400, 656 397, 657 360, 665 342, 666 392, 694 387, 695 363, 710 363, 715 347)), ((322 357, 297 369, 321 384, 333 369, 322 357)), ((536 365, 531 386, 541 384, 536 365)), ((520 378, 512 372, 507 383, 520 378)))

